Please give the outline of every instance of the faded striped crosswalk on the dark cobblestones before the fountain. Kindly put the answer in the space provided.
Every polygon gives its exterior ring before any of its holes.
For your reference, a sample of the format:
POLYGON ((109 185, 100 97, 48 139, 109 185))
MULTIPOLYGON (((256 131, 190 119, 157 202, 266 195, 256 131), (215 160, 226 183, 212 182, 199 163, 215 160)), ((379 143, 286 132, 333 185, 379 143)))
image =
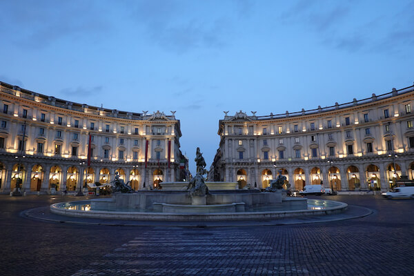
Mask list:
POLYGON ((308 275, 272 246, 243 230, 148 230, 72 276, 308 275))

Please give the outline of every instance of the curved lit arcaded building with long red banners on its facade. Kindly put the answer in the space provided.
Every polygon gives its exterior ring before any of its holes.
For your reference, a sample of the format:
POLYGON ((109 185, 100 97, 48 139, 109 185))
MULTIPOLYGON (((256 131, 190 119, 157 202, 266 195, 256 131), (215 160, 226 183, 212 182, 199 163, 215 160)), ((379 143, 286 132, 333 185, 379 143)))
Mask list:
POLYGON ((70 192, 116 174, 138 190, 186 175, 174 113, 97 108, 0 83, 0 121, 0 193, 16 183, 29 194, 70 192))

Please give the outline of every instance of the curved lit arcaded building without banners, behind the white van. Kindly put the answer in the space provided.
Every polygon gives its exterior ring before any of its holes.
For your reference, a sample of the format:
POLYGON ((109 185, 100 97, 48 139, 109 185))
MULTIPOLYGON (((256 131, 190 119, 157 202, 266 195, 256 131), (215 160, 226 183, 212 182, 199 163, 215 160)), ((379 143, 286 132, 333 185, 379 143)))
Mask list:
POLYGON ((413 88, 280 115, 226 114, 209 177, 264 188, 282 170, 291 190, 386 190, 413 179, 413 88))

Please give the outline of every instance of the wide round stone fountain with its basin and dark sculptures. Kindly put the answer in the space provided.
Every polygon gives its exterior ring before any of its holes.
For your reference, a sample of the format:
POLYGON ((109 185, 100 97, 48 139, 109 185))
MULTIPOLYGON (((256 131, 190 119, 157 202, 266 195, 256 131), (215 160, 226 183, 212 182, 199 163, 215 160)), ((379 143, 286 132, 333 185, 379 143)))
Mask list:
POLYGON ((286 197, 282 189, 286 178, 281 173, 265 192, 236 190, 237 183, 205 182, 206 162, 199 148, 195 161, 197 175, 190 182, 172 182, 163 184, 162 190, 132 193, 117 178, 111 198, 52 204, 50 210, 59 215, 101 219, 223 221, 328 215, 347 208, 337 201, 286 197))

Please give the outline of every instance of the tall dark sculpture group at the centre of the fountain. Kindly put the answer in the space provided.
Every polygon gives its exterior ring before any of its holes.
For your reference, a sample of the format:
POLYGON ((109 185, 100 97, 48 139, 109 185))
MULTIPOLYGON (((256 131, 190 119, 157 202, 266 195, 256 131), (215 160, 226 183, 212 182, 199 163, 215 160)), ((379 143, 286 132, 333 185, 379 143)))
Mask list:
POLYGON ((195 155, 194 161, 197 164, 197 175, 190 180, 187 190, 190 191, 193 204, 200 205, 206 204, 206 195, 209 195, 210 193, 204 182, 203 175, 206 173, 206 161, 204 160, 203 154, 200 152, 200 148, 197 148, 195 155))

